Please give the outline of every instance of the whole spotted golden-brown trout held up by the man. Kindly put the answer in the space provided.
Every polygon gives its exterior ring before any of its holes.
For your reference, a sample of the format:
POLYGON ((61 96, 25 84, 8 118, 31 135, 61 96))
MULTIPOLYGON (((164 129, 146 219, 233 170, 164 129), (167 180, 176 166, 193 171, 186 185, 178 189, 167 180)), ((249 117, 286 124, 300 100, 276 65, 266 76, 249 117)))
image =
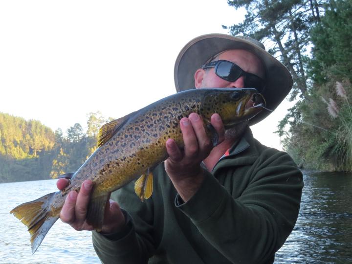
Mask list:
POLYGON ((216 132, 210 124, 213 113, 220 114, 228 129, 254 117, 264 107, 263 96, 254 88, 191 89, 168 96, 102 126, 96 151, 75 173, 62 176, 70 178, 66 189, 23 203, 10 213, 28 227, 33 254, 59 218, 67 194, 79 191, 83 181, 90 179, 94 186, 87 222, 100 230, 111 192, 140 177, 135 182, 136 194, 141 200, 152 195, 152 170, 168 157, 166 141, 173 138, 183 147, 179 128, 182 117, 198 113, 216 145, 216 132))

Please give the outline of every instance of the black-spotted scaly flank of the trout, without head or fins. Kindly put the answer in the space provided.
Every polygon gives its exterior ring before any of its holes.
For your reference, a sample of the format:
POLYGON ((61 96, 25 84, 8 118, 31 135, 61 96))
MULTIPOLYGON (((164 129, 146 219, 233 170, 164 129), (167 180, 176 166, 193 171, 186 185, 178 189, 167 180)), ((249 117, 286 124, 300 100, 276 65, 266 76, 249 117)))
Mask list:
POLYGON ((182 146, 179 120, 192 112, 199 113, 201 95, 194 92, 188 98, 177 99, 156 102, 126 123, 123 131, 116 133, 80 167, 71 178, 71 184, 58 193, 51 210, 55 213, 61 210, 66 195, 72 190, 79 191, 86 179, 96 185, 94 197, 117 190, 142 175, 147 168, 166 159, 165 144, 169 138, 182 146))

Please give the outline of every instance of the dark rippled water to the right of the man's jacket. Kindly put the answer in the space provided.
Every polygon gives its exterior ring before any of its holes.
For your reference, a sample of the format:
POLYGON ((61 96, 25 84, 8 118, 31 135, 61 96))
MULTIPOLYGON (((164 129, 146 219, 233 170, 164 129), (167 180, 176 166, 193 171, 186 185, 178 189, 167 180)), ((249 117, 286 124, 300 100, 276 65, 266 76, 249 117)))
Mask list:
POLYGON ((352 175, 304 175, 294 230, 275 263, 352 263, 352 175))

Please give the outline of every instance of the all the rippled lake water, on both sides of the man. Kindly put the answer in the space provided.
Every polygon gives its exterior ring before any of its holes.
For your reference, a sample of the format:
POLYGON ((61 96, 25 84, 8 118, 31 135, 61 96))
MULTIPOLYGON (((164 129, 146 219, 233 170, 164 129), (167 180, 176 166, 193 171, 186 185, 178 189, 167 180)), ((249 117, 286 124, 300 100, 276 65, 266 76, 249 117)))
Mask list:
MULTIPOLYGON (((304 173, 296 226, 275 263, 352 264, 352 174, 304 173)), ((9 214, 25 201, 57 191, 55 180, 0 184, 0 264, 100 263, 90 232, 58 220, 32 255, 26 227, 9 214)))

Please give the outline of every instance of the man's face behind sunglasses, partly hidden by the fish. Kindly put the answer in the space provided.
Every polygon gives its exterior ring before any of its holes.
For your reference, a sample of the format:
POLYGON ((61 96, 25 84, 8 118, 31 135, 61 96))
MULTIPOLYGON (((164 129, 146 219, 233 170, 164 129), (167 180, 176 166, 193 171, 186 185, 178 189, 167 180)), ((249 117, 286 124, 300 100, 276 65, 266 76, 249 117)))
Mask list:
MULTIPOLYGON (((242 70, 265 78, 264 66, 253 53, 243 49, 231 49, 221 53, 216 60, 226 60, 237 64, 242 70)), ((198 69, 195 73, 196 88, 245 88, 244 76, 234 82, 221 79, 215 74, 215 68, 198 69)))

